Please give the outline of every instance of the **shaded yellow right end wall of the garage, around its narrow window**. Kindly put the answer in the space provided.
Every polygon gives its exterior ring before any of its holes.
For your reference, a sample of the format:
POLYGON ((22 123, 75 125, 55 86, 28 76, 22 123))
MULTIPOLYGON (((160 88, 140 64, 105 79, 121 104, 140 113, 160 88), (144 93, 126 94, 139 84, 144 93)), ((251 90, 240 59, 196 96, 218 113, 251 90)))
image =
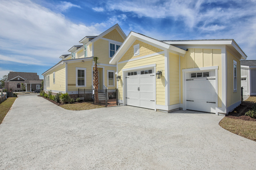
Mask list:
POLYGON ((227 51, 227 107, 235 104, 241 100, 241 68, 240 61, 227 51), (237 80, 237 91, 234 92, 234 72, 233 72, 233 60, 237 62, 236 67, 236 80, 237 80))

